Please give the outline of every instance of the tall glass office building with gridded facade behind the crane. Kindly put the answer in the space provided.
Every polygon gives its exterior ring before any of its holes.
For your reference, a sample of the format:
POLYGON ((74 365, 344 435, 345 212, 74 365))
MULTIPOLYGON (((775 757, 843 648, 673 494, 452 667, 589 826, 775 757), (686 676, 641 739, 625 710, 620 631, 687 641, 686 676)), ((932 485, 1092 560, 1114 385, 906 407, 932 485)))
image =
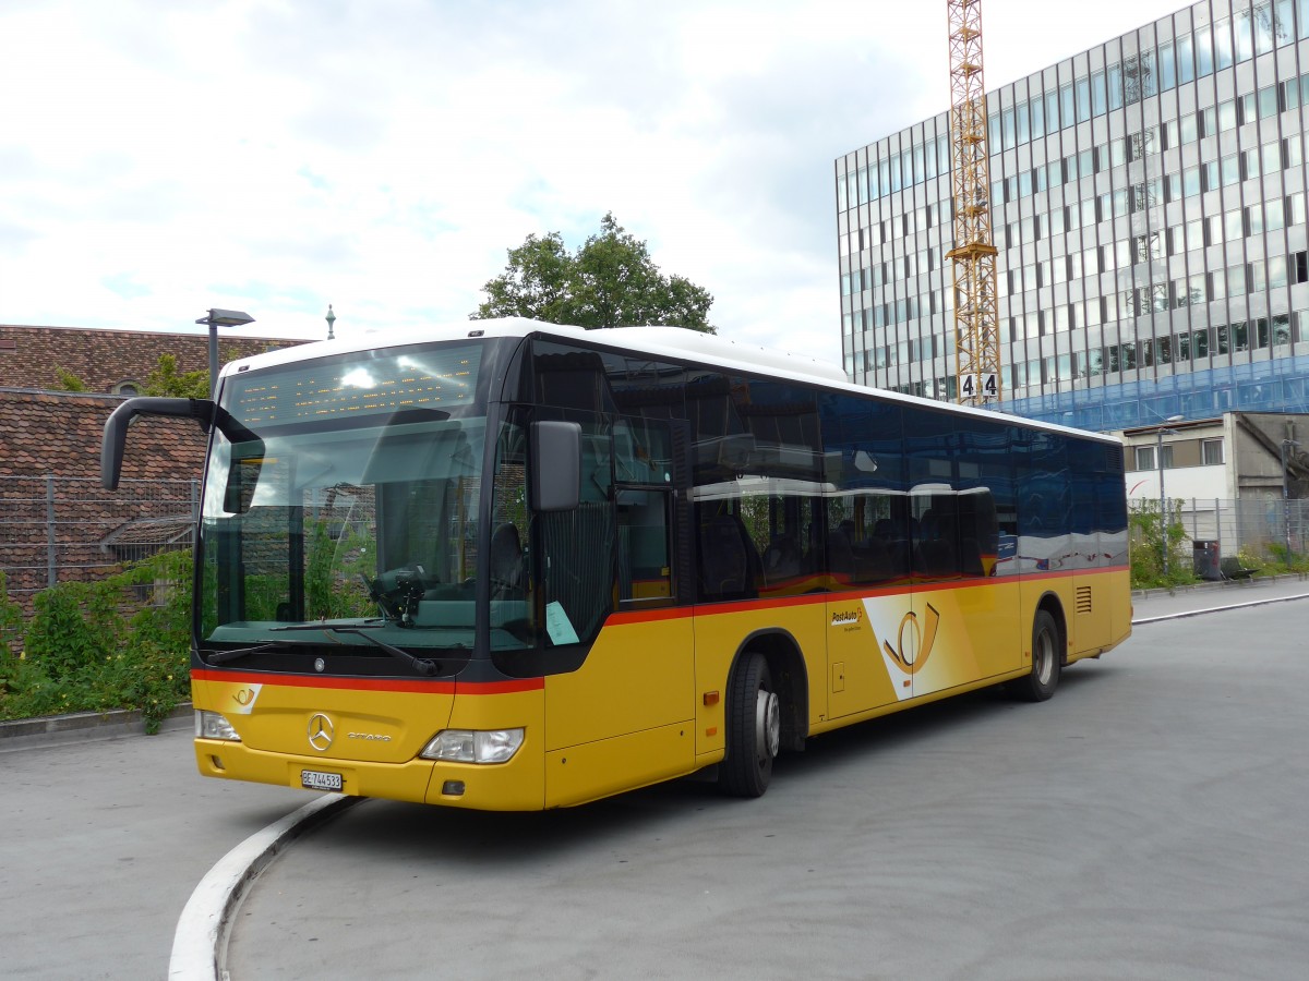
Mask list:
MULTIPOLYGON (((1309 0, 1204 0, 987 112, 1004 411, 1309 412, 1309 0)), ((855 382, 954 398, 949 167, 946 112, 835 162, 855 382)))

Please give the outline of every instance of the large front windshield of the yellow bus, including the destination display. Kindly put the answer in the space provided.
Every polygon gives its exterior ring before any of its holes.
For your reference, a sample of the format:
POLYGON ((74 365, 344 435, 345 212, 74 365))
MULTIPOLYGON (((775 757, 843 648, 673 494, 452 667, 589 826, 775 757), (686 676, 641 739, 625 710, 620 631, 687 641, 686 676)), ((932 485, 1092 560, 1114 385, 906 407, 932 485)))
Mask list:
POLYGON ((236 424, 215 428, 200 521, 202 644, 473 649, 480 349, 425 353, 228 381, 236 424))

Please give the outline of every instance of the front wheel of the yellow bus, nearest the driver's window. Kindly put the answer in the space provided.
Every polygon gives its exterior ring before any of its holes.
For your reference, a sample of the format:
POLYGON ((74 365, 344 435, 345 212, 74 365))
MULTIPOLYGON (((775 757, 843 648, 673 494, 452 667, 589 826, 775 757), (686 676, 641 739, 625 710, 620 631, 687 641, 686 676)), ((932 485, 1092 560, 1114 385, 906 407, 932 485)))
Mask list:
POLYGON ((719 765, 719 786, 732 797, 762 797, 781 744, 781 702, 763 654, 747 653, 737 666, 726 709, 726 757, 719 765))

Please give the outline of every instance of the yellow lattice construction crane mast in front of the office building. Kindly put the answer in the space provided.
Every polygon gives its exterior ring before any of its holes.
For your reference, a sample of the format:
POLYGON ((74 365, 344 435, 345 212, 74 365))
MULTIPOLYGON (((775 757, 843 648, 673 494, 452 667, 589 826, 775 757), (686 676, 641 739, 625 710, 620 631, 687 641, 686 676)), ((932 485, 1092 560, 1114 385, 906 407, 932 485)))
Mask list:
POLYGON ((954 178, 954 349, 958 402, 997 403, 1000 334, 991 238, 982 0, 946 0, 950 22, 950 154, 954 178))

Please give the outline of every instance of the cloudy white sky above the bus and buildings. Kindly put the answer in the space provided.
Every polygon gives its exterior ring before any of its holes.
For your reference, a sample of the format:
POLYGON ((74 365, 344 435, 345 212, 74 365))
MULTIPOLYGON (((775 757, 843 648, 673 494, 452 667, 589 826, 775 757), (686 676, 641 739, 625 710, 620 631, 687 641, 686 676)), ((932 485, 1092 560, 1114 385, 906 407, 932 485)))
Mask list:
MULTIPOLYGON (((987 88, 1181 7, 984 0, 987 88)), ((3 0, 0 323, 462 320, 613 211, 720 335, 835 362, 833 161, 948 109, 945 9, 3 0)))

